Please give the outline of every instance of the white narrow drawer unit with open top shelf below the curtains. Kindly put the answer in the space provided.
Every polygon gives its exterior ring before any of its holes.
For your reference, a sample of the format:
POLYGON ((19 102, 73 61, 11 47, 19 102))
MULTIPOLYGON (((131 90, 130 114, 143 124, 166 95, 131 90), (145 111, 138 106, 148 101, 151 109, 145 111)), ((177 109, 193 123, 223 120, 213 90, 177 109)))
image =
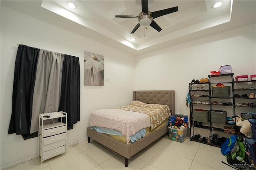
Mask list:
POLYGON ((66 152, 66 131, 67 113, 60 111, 39 114, 38 158, 41 157, 41 164, 44 160, 66 152), (47 120, 52 120, 52 123, 45 124, 47 120))

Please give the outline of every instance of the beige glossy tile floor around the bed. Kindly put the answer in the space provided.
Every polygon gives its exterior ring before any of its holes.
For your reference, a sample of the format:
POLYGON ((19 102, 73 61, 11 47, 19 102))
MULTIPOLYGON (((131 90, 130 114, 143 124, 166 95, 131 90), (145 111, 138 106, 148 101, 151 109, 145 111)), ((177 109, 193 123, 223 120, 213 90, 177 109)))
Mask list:
POLYGON ((67 147, 66 154, 45 160, 42 165, 35 158, 6 170, 234 170, 222 160, 226 162, 218 147, 189 138, 179 143, 166 135, 130 158, 127 168, 124 158, 91 140, 67 147))

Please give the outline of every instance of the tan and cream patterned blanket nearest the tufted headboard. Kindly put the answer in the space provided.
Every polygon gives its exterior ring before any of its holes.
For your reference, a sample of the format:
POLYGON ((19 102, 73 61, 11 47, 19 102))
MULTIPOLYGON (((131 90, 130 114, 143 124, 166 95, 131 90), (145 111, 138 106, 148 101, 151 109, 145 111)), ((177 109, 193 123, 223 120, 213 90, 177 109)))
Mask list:
POLYGON ((133 111, 144 113, 150 117, 151 130, 158 127, 168 115, 170 115, 170 107, 167 105, 147 104, 141 101, 132 101, 129 105, 124 107, 118 107, 116 109, 122 109, 126 111, 133 111))

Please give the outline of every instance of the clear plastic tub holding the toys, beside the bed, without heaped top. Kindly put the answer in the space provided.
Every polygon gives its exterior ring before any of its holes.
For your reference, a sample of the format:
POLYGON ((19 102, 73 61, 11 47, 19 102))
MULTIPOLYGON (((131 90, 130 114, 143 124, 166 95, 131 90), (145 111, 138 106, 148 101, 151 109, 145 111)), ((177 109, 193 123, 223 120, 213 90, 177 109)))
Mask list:
POLYGON ((184 142, 187 138, 187 129, 188 127, 185 127, 183 130, 168 127, 169 139, 175 140, 181 143, 184 142))

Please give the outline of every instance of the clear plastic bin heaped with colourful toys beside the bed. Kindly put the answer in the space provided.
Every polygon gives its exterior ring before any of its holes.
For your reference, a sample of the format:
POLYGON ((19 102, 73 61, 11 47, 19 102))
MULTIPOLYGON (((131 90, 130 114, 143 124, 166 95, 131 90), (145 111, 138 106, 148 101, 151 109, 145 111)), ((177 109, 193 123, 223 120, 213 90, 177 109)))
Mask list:
POLYGON ((169 130, 169 138, 171 140, 184 142, 188 128, 187 117, 169 117, 167 126, 169 130))

